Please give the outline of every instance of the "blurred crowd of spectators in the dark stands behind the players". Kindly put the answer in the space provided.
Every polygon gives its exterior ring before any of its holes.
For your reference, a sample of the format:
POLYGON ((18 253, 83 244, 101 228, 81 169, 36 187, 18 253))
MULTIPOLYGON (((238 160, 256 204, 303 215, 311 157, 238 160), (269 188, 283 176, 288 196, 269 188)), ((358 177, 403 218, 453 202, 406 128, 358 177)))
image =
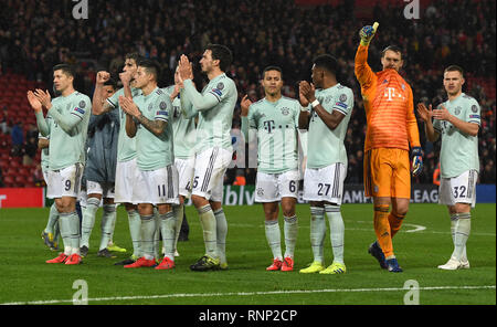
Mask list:
MULTIPOLYGON (((366 115, 353 57, 358 31, 372 21, 357 19, 353 1, 315 8, 298 7, 290 0, 88 1, 86 20, 72 17, 75 2, 71 0, 4 2, 0 13, 0 72, 9 67, 50 86, 54 64, 74 63, 76 89, 88 95, 93 94, 96 72, 107 70, 117 76, 124 54, 129 52, 139 52, 162 65, 161 87, 173 83, 179 55, 188 54, 195 64, 195 85, 201 88, 205 80, 198 61, 208 43, 221 43, 233 52, 228 74, 236 82, 240 98, 245 94, 253 101, 264 96, 258 81, 267 65, 283 68, 283 93, 296 97, 296 83, 310 80, 313 59, 334 54, 339 59, 339 81, 356 95, 346 139, 346 182, 362 183, 366 115)), ((405 62, 402 74, 413 88, 414 104, 445 101, 442 77, 450 64, 464 67, 466 77, 493 80, 495 87, 495 1, 432 1, 419 20, 404 18, 403 1, 398 7, 371 3, 380 29, 370 46, 369 63, 379 71, 381 50, 389 44, 401 46, 405 62)), ((475 83, 464 91, 482 106, 480 182, 495 183, 495 91, 489 94, 488 88, 475 83)), ((233 128, 240 125, 237 105, 233 128)), ((440 141, 426 141, 421 123, 420 135, 425 165, 415 182, 431 183, 440 141)), ((230 169, 225 182, 233 183, 241 175, 247 183, 254 183, 253 169, 230 169)))

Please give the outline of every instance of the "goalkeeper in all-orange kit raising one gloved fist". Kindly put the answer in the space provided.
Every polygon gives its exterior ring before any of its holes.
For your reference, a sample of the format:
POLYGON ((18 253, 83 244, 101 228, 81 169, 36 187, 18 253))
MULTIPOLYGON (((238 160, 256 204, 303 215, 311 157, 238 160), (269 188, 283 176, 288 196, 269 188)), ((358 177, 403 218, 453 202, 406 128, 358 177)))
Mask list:
POLYGON ((374 73, 368 65, 368 48, 377 28, 374 23, 360 30, 356 53, 356 77, 361 85, 368 124, 364 190, 367 197, 373 198, 377 234, 369 253, 382 268, 399 273, 402 268, 393 254, 392 238, 409 210, 411 172, 419 175, 423 161, 412 89, 399 74, 403 65, 401 50, 393 45, 383 50, 381 72, 374 73))

